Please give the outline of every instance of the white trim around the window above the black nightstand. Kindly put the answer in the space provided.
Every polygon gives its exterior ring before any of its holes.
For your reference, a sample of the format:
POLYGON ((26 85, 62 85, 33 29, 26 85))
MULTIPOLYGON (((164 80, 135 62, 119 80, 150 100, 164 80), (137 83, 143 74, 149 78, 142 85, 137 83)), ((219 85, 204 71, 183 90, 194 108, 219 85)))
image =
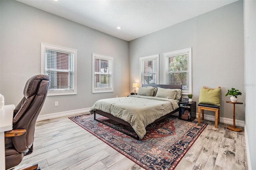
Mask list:
POLYGON ((188 53, 188 85, 189 89, 188 91, 182 91, 182 95, 188 95, 192 93, 192 53, 191 53, 191 47, 186 49, 180 49, 176 51, 171 51, 167 53, 163 53, 163 61, 164 61, 164 83, 166 82, 166 57, 169 55, 178 55, 182 53, 188 53))

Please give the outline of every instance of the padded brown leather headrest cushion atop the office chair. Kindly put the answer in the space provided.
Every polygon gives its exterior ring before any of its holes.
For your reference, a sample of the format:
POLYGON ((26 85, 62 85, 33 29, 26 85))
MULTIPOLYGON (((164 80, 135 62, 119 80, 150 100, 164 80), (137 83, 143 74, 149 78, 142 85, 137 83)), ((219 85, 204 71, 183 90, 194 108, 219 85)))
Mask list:
POLYGON ((40 85, 41 81, 47 80, 50 81, 50 76, 40 74, 40 75, 35 75, 28 79, 25 88, 24 88, 24 97, 28 99, 29 97, 36 95, 38 91, 38 85, 40 85))

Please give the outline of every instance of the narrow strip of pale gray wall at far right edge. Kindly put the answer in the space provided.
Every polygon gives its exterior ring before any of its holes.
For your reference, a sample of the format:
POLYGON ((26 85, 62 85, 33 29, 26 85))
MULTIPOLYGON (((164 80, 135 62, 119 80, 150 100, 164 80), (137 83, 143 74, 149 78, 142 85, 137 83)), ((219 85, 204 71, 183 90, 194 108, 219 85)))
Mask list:
POLYGON ((256 1, 244 1, 244 84, 245 84, 245 128, 248 138, 246 152, 250 153, 248 169, 256 170, 256 1), (249 149, 250 148, 250 149, 249 149), (249 164, 251 163, 251 165, 249 164), (250 168, 251 166, 251 168, 250 168))

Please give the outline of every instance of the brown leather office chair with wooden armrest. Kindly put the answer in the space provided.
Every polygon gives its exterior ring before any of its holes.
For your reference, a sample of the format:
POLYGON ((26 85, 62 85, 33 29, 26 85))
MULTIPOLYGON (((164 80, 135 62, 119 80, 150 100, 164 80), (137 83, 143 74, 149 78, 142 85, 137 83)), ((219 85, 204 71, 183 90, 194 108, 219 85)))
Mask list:
MULTIPOLYGON (((28 79, 24 97, 14 109, 13 130, 5 132, 6 169, 17 166, 24 156, 33 152, 36 119, 46 99, 49 83, 48 75, 28 79)), ((35 164, 32 169, 37 168, 38 164, 35 164)))

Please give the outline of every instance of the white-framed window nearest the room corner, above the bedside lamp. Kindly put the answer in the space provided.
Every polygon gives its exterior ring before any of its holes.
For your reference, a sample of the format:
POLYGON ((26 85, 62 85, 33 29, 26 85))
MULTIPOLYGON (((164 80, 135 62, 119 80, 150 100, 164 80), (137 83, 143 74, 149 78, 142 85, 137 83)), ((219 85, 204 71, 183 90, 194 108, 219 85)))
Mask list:
POLYGON ((140 86, 142 84, 158 84, 159 54, 140 57, 140 86))

